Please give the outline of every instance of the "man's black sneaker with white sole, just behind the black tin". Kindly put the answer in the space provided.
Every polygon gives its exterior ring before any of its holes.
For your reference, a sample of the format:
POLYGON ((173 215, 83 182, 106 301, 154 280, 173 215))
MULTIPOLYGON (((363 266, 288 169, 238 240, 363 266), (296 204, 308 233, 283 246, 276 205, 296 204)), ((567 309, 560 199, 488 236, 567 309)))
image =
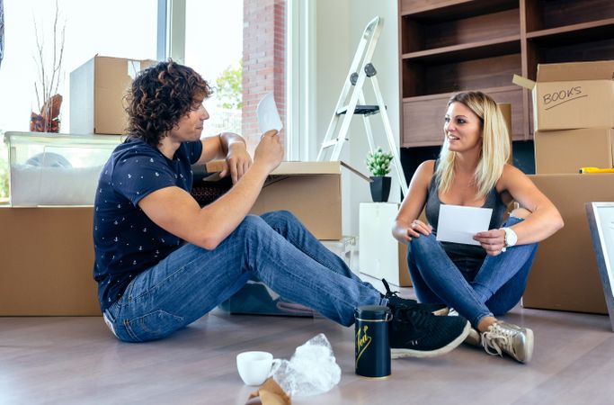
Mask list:
POLYGON ((392 358, 434 357, 458 347, 471 330, 462 317, 440 317, 421 307, 388 302, 392 311, 388 339, 392 358))

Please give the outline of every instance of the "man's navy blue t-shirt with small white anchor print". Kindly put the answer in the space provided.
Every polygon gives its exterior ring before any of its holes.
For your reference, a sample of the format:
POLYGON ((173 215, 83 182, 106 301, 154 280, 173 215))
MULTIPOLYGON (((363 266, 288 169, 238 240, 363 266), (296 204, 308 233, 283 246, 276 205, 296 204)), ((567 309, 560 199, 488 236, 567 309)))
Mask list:
POLYGON ((182 143, 173 160, 141 139, 115 148, 102 167, 93 212, 93 278, 102 311, 116 302, 132 279, 180 247, 182 239, 149 220, 138 202, 156 190, 191 190, 191 165, 200 141, 182 143))

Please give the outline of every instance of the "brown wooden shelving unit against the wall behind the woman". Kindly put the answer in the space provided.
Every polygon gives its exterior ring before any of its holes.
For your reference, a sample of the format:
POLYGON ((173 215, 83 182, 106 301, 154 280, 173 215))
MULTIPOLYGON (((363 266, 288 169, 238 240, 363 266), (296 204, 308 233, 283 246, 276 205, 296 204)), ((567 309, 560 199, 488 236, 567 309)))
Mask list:
POLYGON ((512 103, 514 140, 532 139, 528 90, 539 63, 614 58, 614 0, 399 0, 401 146, 443 139, 449 96, 512 103))

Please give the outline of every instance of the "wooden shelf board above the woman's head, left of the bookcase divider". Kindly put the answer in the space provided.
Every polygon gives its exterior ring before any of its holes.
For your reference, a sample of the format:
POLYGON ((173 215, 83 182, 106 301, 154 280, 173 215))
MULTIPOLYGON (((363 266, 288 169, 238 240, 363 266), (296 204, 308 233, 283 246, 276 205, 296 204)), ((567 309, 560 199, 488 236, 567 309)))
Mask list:
POLYGON ((520 53, 520 51, 521 36, 512 35, 495 40, 481 40, 479 42, 464 43, 444 48, 405 53, 402 58, 423 63, 462 62, 470 59, 520 53))

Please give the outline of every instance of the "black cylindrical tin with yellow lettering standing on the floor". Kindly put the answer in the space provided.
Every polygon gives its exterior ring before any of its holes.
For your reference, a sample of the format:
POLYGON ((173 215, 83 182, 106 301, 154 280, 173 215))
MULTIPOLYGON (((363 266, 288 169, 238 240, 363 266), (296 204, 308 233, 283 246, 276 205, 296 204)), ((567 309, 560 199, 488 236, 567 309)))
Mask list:
POLYGON ((390 309, 380 305, 366 305, 354 310, 354 318, 356 374, 371 378, 387 377, 390 375, 390 309))

